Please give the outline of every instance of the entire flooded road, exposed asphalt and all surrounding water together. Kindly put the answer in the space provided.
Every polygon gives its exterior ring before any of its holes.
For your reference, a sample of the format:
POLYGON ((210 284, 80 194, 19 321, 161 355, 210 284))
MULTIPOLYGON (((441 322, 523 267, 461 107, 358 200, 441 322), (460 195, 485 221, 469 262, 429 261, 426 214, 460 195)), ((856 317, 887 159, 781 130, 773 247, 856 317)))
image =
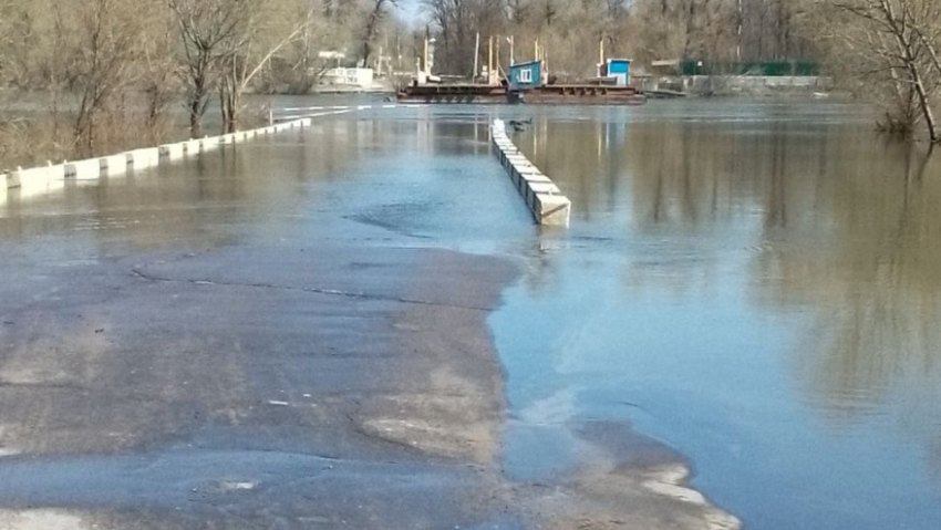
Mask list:
POLYGON ((941 160, 870 128, 373 110, 11 196, 0 528, 722 528, 686 469, 746 528, 938 528, 941 160), (488 148, 530 116, 568 230, 488 148))

